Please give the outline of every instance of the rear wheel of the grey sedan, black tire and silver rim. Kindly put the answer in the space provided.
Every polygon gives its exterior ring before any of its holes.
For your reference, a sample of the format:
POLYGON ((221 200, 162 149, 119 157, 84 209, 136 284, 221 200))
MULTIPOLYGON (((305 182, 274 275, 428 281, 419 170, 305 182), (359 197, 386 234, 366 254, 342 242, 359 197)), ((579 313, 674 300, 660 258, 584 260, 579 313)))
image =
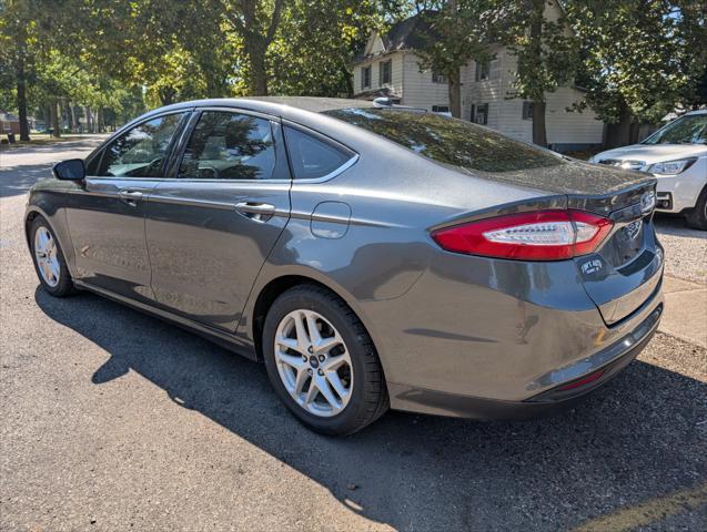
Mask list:
POLYGON ((262 339, 263 358, 275 392, 313 431, 351 434, 387 411, 387 388, 373 340, 346 303, 326 288, 300 285, 283 293, 267 311, 262 339), (315 338, 323 338, 321 341, 310 341, 312 323, 317 328, 315 338), (341 345, 334 345, 337 339, 341 345), (296 346, 291 349, 280 341, 296 346), (327 342, 334 346, 329 351, 304 347, 327 342), (344 358, 346 361, 342 361, 344 358), (283 359, 294 361, 299 369, 283 359), (332 370, 336 364, 337 368, 332 370), (297 389, 300 377, 303 383, 297 389), (320 391, 320 387, 329 389, 327 393, 320 391), (341 390, 343 393, 336 393, 341 390), (326 397, 335 400, 327 401, 326 397))

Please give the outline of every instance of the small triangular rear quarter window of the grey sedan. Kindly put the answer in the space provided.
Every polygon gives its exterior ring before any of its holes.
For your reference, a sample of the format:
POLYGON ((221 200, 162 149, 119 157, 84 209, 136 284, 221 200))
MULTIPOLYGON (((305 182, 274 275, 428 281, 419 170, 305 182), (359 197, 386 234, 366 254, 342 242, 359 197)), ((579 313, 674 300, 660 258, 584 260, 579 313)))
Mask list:
POLYGON ((315 180, 340 168, 355 154, 323 137, 285 126, 285 141, 295 180, 315 180))

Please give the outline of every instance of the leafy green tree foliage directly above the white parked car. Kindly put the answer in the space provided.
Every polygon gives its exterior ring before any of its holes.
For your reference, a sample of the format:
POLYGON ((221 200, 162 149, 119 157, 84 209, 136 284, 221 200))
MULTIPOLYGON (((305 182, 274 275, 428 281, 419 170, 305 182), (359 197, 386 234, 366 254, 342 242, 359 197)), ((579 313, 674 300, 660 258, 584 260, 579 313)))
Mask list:
POLYGON ((699 103, 707 3, 573 0, 567 10, 580 41, 577 81, 587 90, 582 105, 610 124, 608 145, 635 141, 632 124, 699 103))

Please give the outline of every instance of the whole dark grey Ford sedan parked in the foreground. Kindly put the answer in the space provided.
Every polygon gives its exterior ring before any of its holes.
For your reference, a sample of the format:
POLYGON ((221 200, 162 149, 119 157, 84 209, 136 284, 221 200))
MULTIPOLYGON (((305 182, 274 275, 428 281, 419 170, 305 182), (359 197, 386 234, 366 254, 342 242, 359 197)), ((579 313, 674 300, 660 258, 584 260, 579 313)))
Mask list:
POLYGON ((323 433, 388 408, 572 405, 663 310, 655 178, 433 113, 186 102, 54 174, 26 216, 49 294, 90 290, 263 361, 323 433))

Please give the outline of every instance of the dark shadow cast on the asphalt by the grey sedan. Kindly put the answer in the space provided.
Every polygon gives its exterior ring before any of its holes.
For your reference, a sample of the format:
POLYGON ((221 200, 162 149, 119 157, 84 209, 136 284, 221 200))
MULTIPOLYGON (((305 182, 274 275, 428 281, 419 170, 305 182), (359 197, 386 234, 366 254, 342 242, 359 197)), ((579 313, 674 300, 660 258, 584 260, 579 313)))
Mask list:
POLYGON ((645 362, 548 419, 391 412, 352 437, 325 438, 294 420, 259 364, 90 294, 54 299, 38 288, 36 301, 110 354, 95 385, 137 371, 396 530, 566 529, 707 480, 707 386, 645 362))

